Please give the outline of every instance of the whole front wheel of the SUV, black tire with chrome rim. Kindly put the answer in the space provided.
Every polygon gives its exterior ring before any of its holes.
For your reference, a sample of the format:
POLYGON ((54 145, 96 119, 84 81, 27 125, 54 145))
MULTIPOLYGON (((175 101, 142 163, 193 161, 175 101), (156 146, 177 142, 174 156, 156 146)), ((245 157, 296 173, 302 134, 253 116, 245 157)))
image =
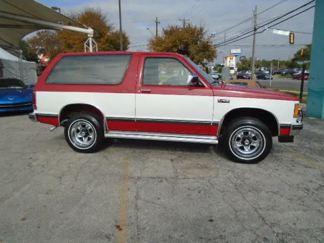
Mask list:
POLYGON ((223 134, 223 143, 227 155, 232 160, 254 164, 269 154, 272 136, 262 121, 246 116, 235 119, 228 125, 223 134), (248 150, 251 150, 251 153, 248 150))

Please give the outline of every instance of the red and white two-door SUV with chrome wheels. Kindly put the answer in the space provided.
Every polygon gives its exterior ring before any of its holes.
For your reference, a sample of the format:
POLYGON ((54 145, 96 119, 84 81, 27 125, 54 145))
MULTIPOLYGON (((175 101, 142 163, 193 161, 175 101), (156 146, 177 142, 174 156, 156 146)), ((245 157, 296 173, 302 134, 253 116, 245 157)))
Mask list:
POLYGON ((64 127, 68 145, 82 153, 101 149, 104 138, 220 141, 234 161, 256 163, 272 137, 293 142, 303 128, 297 97, 219 84, 177 53, 59 54, 39 77, 33 105, 32 121, 64 127), (160 66, 179 69, 168 85, 160 66))

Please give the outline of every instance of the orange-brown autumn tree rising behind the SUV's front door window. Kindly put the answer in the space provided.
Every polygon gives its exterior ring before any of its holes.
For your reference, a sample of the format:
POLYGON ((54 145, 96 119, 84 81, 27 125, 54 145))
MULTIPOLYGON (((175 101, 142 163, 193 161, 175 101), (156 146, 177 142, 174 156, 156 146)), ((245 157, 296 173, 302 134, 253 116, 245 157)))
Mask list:
POLYGON ((195 63, 213 61, 217 56, 210 38, 206 37, 204 26, 188 24, 186 27, 169 25, 161 36, 149 39, 149 50, 156 52, 175 52, 187 55, 195 63))

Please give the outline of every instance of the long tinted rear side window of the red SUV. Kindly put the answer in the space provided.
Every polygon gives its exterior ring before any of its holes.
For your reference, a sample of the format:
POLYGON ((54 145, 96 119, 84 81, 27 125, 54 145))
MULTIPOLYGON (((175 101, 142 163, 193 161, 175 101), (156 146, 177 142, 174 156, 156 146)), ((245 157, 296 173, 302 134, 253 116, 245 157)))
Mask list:
POLYGON ((132 55, 65 56, 53 68, 46 84, 118 85, 132 55))

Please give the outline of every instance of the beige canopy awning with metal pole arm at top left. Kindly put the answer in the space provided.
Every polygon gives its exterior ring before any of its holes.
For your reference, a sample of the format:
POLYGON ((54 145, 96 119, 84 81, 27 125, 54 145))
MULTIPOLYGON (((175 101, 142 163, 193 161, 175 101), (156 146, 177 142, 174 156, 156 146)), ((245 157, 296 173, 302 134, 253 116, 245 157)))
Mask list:
POLYGON ((19 42, 24 36, 41 29, 70 29, 93 35, 91 28, 34 0, 0 0, 0 6, 2 47, 19 48, 19 42))

